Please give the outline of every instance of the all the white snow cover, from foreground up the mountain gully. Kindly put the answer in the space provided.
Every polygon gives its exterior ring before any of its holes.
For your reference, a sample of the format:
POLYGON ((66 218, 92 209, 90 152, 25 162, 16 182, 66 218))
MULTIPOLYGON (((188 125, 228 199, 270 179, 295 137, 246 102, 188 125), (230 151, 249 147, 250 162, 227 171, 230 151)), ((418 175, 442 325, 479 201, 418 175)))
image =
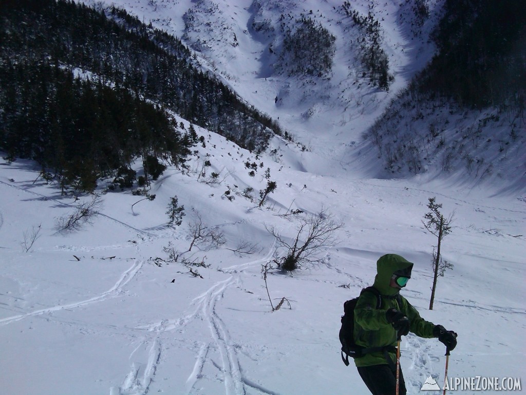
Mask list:
MULTIPOLYGON (((195 147, 189 171, 169 167, 151 185, 153 201, 105 193, 101 183, 100 214, 76 232, 59 232, 56 222, 92 197, 61 196, 56 183, 37 179, 40 169, 33 163, 1 161, 2 393, 367 394, 356 370, 340 360, 339 320, 343 302, 372 283, 376 260, 391 252, 415 263, 404 296, 422 317, 459 334, 450 377, 521 378, 523 190, 502 190, 495 179, 468 188, 468 182, 452 184, 440 176, 425 182, 365 176, 377 174, 378 163, 365 151, 361 134, 429 58, 426 32, 435 14, 418 33, 411 31, 410 2, 401 8, 398 2, 371 3, 395 73, 386 93, 360 78, 355 84, 355 54, 342 37, 358 33, 336 1, 113 3, 184 38, 194 50, 200 45, 196 57, 204 67, 249 103, 279 117, 310 151, 275 138, 267 153, 256 156, 196 126, 205 146, 195 147), (337 37, 331 78, 275 73, 268 51, 280 40, 275 24, 281 14, 296 17, 310 10, 337 37), (200 21, 191 28, 185 25, 190 16, 200 21), (254 22, 267 20, 274 31, 256 32, 254 22), (199 176, 203 169, 206 174, 199 176), (267 169, 278 187, 259 208, 267 169), (167 226, 174 196, 186 215, 180 226, 167 226), (454 211, 456 220, 442 244, 454 269, 439 279, 429 311, 436 239, 421 220, 432 196, 444 214, 454 211), (336 233, 339 243, 320 251, 320 264, 292 276, 269 271, 272 303, 276 307, 286 298, 271 312, 261 269, 276 266, 273 260, 286 251, 266 228, 274 226, 289 240, 297 222, 284 214, 323 209, 344 224, 336 233), (187 251, 197 215, 225 244, 187 251), (242 244, 250 254, 232 251, 242 244), (177 262, 171 252, 179 253, 177 262)), ((368 13, 368 2, 352 3, 368 13)), ((428 4, 439 8, 437 2, 428 4)), ((186 120, 178 122, 188 127, 186 120)), ((442 387, 441 343, 410 334, 401 348, 409 394, 419 393, 429 376, 442 387)))

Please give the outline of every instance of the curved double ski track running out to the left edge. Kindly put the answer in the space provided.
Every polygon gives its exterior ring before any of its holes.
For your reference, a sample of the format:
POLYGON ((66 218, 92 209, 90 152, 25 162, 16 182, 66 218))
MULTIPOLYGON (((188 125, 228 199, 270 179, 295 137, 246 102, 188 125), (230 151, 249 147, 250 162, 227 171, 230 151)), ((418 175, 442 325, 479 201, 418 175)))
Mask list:
POLYGON ((27 318, 27 317, 33 317, 35 315, 53 313, 55 311, 60 311, 60 310, 74 309, 77 307, 85 306, 87 304, 103 302, 109 298, 116 297, 117 295, 123 292, 123 288, 125 287, 125 285, 128 282, 130 282, 131 279, 135 277, 137 272, 143 267, 143 264, 144 264, 144 261, 136 260, 134 264, 131 265, 131 267, 120 276, 120 278, 117 280, 117 282, 112 288, 110 288, 106 292, 103 292, 97 295, 96 297, 89 298, 89 299, 79 301, 79 302, 74 302, 74 303, 59 304, 53 307, 35 310, 30 313, 15 315, 14 317, 7 317, 7 318, 0 320, 0 325, 7 325, 15 321, 23 320, 24 318, 27 318))

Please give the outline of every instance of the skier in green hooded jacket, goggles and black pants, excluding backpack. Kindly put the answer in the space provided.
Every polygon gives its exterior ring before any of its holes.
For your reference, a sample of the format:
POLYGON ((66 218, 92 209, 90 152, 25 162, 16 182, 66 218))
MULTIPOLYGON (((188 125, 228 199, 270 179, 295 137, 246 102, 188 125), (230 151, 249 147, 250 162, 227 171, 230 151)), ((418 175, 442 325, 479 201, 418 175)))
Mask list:
MULTIPOLYGON (((421 338, 438 338, 449 350, 457 345, 457 334, 420 317, 406 298, 399 295, 411 278, 413 264, 400 255, 387 254, 377 262, 375 287, 381 295, 362 292, 355 307, 355 340, 366 348, 383 347, 383 352, 371 352, 355 358, 362 380, 373 395, 396 393, 396 345, 399 337, 409 332, 421 338), (398 300, 401 305, 399 305, 398 300)), ((406 394, 406 384, 400 369, 399 395, 406 394)))

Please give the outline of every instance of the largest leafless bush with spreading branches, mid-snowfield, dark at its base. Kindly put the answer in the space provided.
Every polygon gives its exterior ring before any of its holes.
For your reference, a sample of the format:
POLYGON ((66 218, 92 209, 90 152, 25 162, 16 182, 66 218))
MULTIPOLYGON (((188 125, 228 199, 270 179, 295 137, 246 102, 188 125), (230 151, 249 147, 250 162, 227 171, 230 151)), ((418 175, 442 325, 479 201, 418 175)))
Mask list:
POLYGON ((320 262, 322 258, 319 253, 336 244, 334 233, 343 227, 343 223, 336 221, 325 209, 307 217, 297 217, 296 221, 297 232, 291 241, 282 238, 274 226, 266 226, 278 244, 287 249, 287 255, 277 261, 281 269, 286 271, 299 269, 303 264, 320 262))

